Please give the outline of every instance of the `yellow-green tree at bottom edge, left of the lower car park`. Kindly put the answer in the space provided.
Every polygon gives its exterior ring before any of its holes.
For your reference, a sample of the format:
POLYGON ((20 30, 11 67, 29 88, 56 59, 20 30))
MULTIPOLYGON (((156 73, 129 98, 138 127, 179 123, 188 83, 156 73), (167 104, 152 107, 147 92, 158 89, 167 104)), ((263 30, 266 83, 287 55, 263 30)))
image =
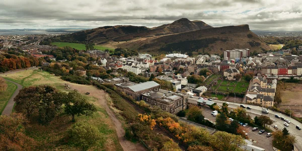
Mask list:
POLYGON ((213 139, 210 140, 210 144, 214 150, 234 151, 241 150, 240 146, 243 146, 245 141, 240 135, 217 131, 213 134, 213 139))

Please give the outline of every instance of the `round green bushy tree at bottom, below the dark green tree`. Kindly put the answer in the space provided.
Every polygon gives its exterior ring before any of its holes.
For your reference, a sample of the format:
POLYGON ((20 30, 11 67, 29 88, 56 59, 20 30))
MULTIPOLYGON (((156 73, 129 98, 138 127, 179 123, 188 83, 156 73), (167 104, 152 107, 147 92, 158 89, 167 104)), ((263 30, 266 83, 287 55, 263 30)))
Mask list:
POLYGON ((75 123, 67 130, 66 139, 70 145, 80 146, 84 150, 96 145, 101 139, 99 129, 87 122, 75 123))

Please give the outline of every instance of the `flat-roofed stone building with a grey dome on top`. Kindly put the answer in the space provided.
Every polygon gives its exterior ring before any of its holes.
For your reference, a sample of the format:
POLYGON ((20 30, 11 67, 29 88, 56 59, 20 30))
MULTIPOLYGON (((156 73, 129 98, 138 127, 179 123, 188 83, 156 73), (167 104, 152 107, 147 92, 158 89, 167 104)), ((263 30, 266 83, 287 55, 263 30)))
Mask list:
POLYGON ((149 91, 141 95, 146 103, 158 106, 163 110, 176 114, 187 108, 188 94, 176 93, 162 89, 149 91))

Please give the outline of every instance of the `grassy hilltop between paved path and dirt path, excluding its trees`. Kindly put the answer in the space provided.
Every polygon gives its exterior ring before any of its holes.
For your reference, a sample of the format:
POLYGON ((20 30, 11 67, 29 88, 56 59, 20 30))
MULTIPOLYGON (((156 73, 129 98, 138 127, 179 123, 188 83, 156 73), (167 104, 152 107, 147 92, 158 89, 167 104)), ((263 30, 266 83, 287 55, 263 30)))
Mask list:
MULTIPOLYGON (((2 75, 3 76, 3 75, 2 75)), ((75 117, 77 122, 88 122, 96 127, 98 127, 101 135, 102 141, 98 145, 93 146, 92 150, 122 150, 119 143, 118 136, 115 129, 115 122, 109 118, 105 108, 99 102, 106 100, 100 100, 96 96, 103 96, 104 92, 98 90, 93 86, 71 84, 60 80, 59 77, 49 74, 48 72, 41 70, 25 70, 21 72, 16 72, 14 74, 8 74, 4 78, 10 79, 17 82, 24 87, 48 84, 56 87, 57 89, 68 92, 77 88, 88 101, 95 104, 98 108, 98 112, 94 113, 92 117, 80 116, 75 117), (64 89, 64 84, 68 84, 71 88, 70 90, 64 89), (82 89, 82 90, 81 90, 82 89), (89 91, 93 93, 94 96, 87 96, 84 93, 89 91), (103 93, 103 94, 100 94, 103 93)), ((14 92, 14 88, 11 88, 14 92)), ((1 97, 2 98, 2 97, 1 97)), ((8 99, 7 99, 8 100, 8 99)), ((62 137, 64 136, 66 129, 68 129, 72 122, 70 122, 71 117, 66 115, 58 116, 49 125, 43 126, 38 123, 31 123, 26 127, 27 134, 34 138, 38 143, 38 149, 41 150, 79 150, 78 148, 70 147, 66 144, 62 144, 62 137)))

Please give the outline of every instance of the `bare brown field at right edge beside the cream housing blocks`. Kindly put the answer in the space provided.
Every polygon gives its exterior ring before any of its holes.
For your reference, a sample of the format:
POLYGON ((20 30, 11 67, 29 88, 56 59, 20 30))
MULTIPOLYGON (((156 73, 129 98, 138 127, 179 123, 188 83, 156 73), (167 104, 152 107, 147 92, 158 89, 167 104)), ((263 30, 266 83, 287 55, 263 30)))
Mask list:
POLYGON ((302 84, 286 83, 285 87, 280 91, 282 102, 278 108, 285 110, 290 107, 291 110, 302 113, 302 84))

